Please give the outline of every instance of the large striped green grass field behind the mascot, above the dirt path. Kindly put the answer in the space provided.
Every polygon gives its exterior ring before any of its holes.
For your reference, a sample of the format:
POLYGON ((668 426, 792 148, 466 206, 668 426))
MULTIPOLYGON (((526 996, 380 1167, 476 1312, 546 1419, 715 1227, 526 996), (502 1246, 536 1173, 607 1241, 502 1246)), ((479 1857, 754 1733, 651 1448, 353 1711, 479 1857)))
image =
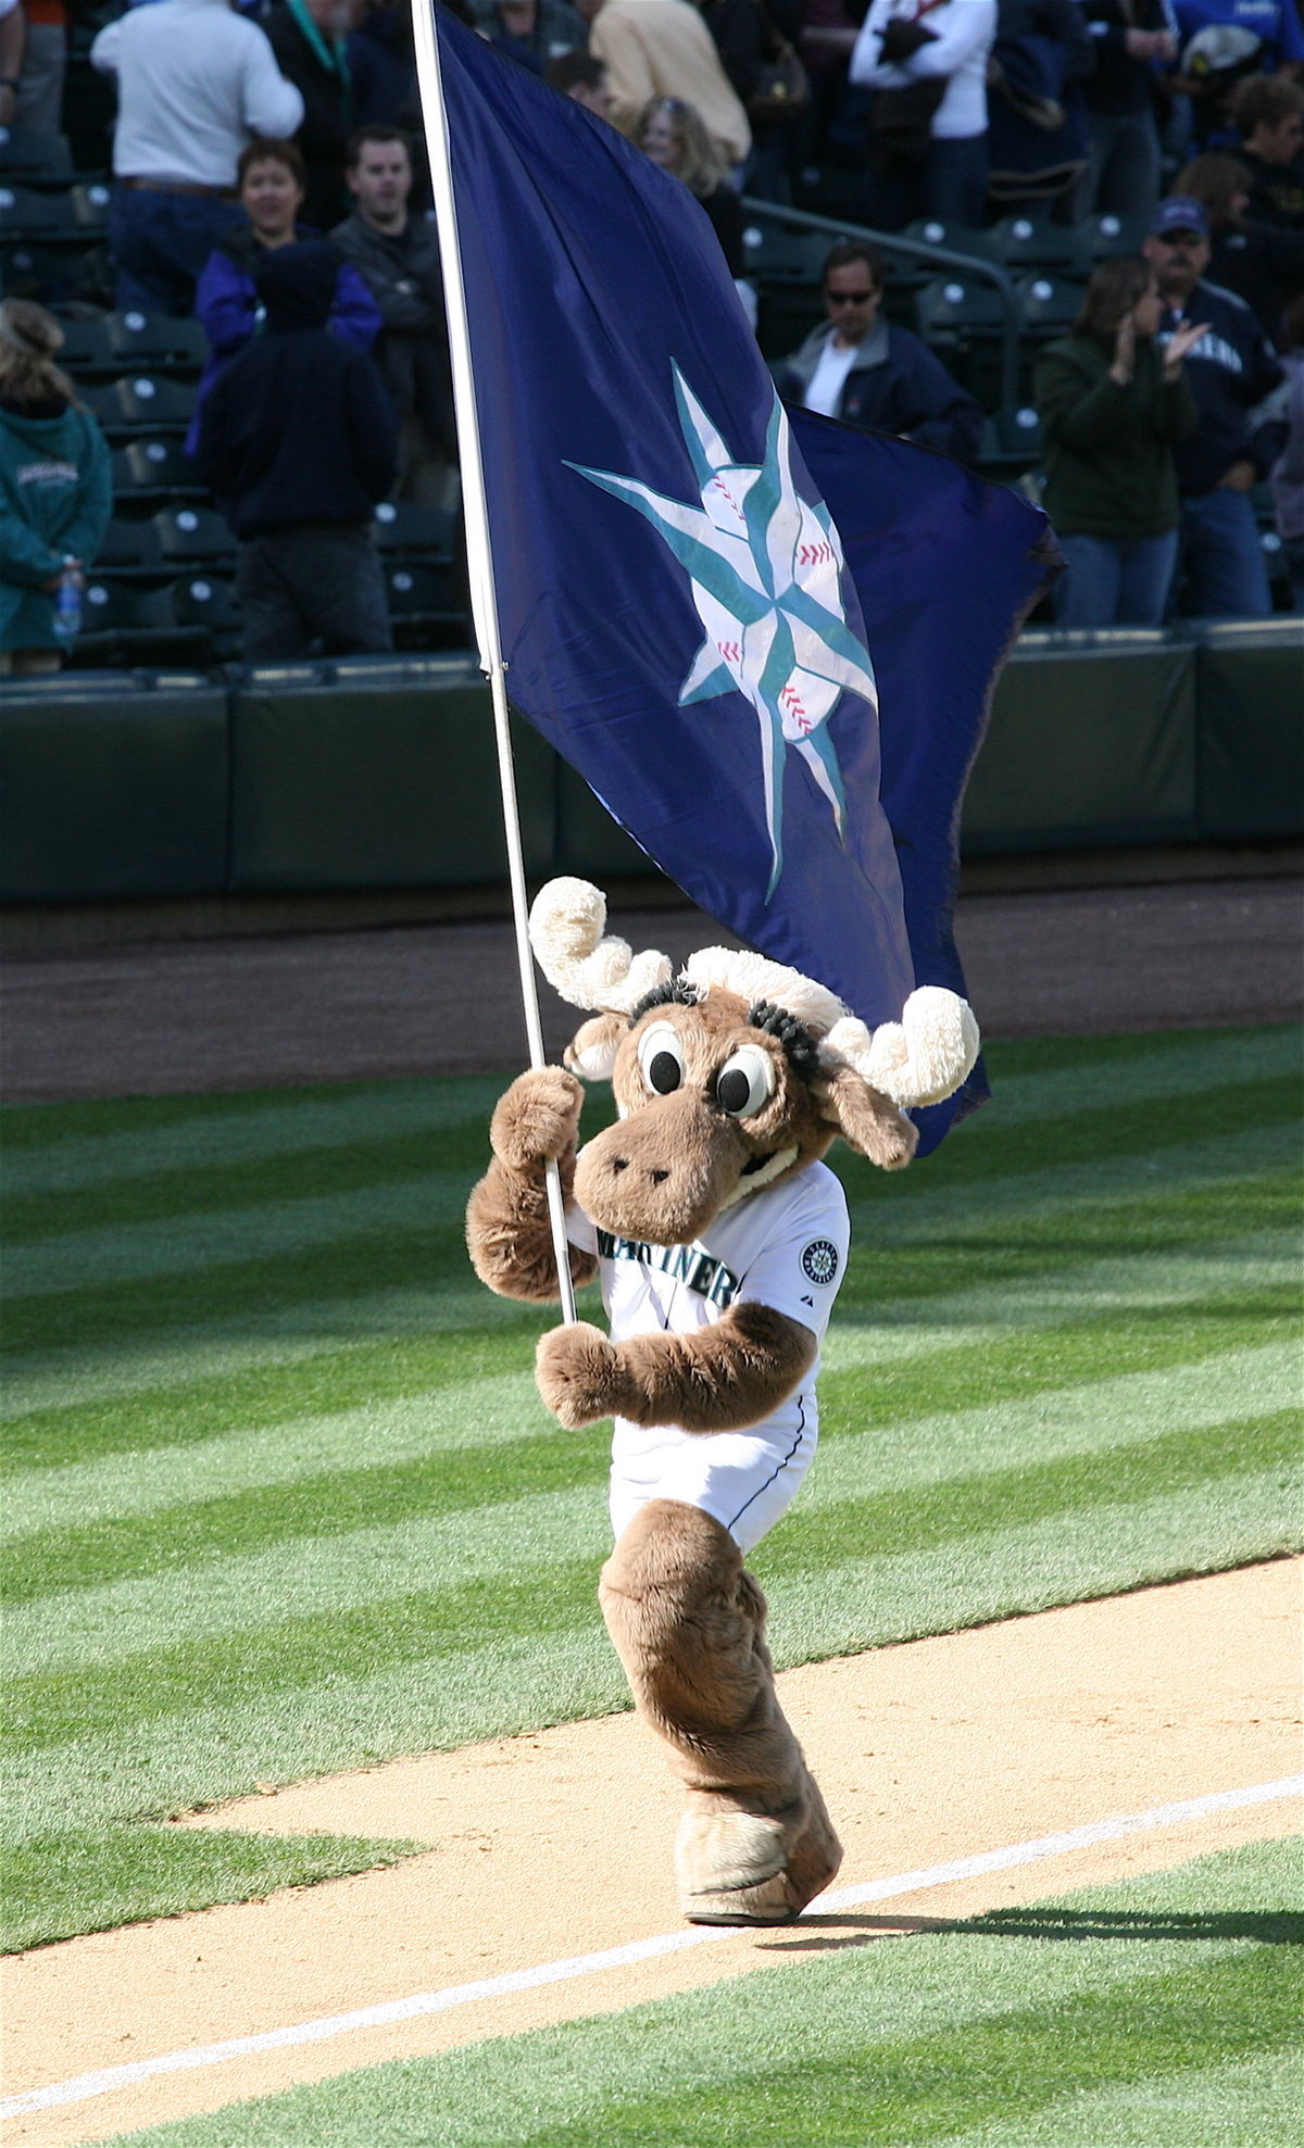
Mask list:
MULTIPOLYGON (((784 1665, 1298 1542, 1293 1033, 990 1061, 926 1164, 836 1151, 823 1443, 754 1562, 784 1665)), ((412 1847, 170 1813, 625 1706, 604 1431, 462 1248, 498 1089, 4 1115, 9 1946, 412 1847)))

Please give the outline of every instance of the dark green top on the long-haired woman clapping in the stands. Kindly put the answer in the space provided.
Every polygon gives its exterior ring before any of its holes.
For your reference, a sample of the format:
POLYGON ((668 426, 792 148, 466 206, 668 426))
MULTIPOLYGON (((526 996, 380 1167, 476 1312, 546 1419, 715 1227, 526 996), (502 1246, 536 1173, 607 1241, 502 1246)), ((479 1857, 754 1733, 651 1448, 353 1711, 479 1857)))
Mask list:
POLYGON ((1186 374, 1162 378, 1151 342, 1136 344, 1126 387, 1109 378, 1111 365, 1113 339, 1096 335, 1046 344, 1035 363, 1042 505, 1066 537, 1162 537, 1179 520, 1173 449, 1194 432, 1194 397, 1186 374))

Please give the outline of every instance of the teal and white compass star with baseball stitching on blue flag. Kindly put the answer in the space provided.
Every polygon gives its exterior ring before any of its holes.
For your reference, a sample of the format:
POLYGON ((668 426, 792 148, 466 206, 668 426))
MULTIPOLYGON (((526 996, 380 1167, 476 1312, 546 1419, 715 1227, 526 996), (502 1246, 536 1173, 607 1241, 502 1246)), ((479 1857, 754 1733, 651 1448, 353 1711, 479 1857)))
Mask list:
POLYGON ((707 638, 679 702, 713 700, 737 687, 756 711, 773 859, 769 902, 784 870, 786 750, 795 748, 806 760, 844 840, 846 797, 827 722, 846 690, 876 709, 874 670, 868 649, 846 625, 834 518, 823 500, 803 500, 793 481, 788 419, 778 395, 760 464, 730 455, 679 367, 675 400, 698 503, 666 498, 612 470, 586 470, 578 462, 569 468, 644 516, 690 576, 707 638))

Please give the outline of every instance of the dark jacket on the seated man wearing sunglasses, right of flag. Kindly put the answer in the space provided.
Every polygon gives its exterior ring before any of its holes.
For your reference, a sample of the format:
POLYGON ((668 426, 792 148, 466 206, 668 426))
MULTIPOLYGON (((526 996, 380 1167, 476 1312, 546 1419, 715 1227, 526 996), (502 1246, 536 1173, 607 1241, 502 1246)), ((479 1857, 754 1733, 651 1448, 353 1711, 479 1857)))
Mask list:
MULTIPOLYGON (((825 322, 814 329, 801 350, 776 365, 780 395, 803 402, 806 389, 834 333, 825 322)), ((982 408, 952 380, 941 359, 909 329, 894 329, 883 318, 874 322, 859 346, 846 376, 838 417, 849 425, 872 425, 874 432, 909 434, 919 447, 932 447, 958 462, 973 462, 982 440, 982 408)))

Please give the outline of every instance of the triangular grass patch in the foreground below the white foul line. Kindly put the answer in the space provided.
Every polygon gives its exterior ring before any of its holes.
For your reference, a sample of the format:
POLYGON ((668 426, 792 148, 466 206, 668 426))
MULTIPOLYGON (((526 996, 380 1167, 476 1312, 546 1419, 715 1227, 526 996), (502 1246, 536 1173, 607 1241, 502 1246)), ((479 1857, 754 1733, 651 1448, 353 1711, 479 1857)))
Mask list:
MULTIPOLYGON (((367 2066, 131 2148, 1267 2148, 1298 2139, 1295 1843, 367 2066)), ((118 2148, 129 2148, 118 2137, 118 2148)))

